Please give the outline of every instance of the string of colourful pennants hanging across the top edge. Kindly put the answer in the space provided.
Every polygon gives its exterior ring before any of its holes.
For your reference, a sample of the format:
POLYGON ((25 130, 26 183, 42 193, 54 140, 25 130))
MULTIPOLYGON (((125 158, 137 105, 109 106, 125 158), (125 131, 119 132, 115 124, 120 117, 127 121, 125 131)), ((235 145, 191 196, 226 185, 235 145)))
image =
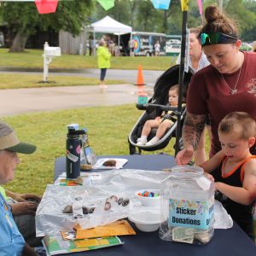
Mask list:
MULTIPOLYGON (((59 0, 5 0, 6 2, 35 2, 38 13, 41 15, 55 13, 59 0)), ((61 1, 61 0, 60 0, 61 1)), ((62 0, 64 1, 64 0, 62 0)), ((114 7, 115 0, 95 0, 106 11, 114 7)), ((132 1, 132 0, 130 0, 132 1)), ((4 2, 4 0, 3 0, 4 2)), ((155 9, 169 9, 171 0, 151 0, 155 9)), ((202 0, 197 0, 200 15, 202 16, 202 0)), ((188 10, 189 0, 181 0, 182 11, 188 10)))

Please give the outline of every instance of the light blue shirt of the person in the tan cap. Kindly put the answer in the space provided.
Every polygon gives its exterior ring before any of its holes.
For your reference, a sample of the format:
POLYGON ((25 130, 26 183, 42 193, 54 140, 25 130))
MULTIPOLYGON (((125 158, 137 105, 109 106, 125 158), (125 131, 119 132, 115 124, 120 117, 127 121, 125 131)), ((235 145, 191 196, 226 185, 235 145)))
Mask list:
POLYGON ((20 256, 24 246, 24 238, 15 224, 7 202, 0 193, 0 254, 20 256))

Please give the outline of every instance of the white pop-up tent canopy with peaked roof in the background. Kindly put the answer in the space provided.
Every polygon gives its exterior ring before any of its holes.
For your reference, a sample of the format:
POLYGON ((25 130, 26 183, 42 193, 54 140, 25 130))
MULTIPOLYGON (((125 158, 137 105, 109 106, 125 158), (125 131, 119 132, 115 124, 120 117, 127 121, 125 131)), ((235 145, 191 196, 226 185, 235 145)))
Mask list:
MULTIPOLYGON (((113 20, 113 18, 106 16, 102 20, 98 20, 94 23, 91 23, 90 26, 86 26, 87 31, 93 32, 93 39, 95 42, 95 34, 96 32, 102 33, 112 33, 118 35, 118 46, 119 46, 119 36, 121 34, 127 34, 132 32, 132 27, 127 26, 123 23, 120 23, 117 20, 113 20)), ((95 55, 95 48, 93 49, 95 55)))

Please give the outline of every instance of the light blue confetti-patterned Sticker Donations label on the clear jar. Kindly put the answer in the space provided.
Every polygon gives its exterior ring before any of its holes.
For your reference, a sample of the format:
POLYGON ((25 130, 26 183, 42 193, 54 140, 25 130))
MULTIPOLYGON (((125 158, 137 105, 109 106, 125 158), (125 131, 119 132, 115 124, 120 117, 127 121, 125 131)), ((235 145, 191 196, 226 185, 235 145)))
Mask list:
POLYGON ((214 199, 186 201, 169 199, 169 227, 189 227, 207 230, 213 217, 214 199))

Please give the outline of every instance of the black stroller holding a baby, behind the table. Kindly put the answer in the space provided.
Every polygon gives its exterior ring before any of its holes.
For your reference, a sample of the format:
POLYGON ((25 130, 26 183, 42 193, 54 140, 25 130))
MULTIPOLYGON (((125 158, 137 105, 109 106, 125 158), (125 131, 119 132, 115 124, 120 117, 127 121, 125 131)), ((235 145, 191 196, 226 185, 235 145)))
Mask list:
MULTIPOLYGON (((143 131, 143 125, 148 119, 155 119, 163 111, 174 110, 168 104, 168 91, 174 85, 178 84, 179 75, 179 65, 173 66, 166 70, 159 79, 157 79, 154 84, 154 95, 148 100, 147 104, 137 104, 137 108, 140 110, 145 110, 142 116, 137 120, 136 125, 132 128, 129 137, 129 150, 130 154, 141 154, 144 151, 154 151, 162 148, 166 148, 172 137, 176 137, 177 121, 172 125, 172 127, 166 131, 166 134, 160 138, 160 141, 154 145, 137 145, 137 138, 141 137, 143 131), (167 105, 167 106, 166 106, 167 105), (137 151, 138 148, 138 151, 137 151)), ((184 73, 183 80, 183 96, 186 98, 186 91, 188 89, 189 81, 193 73, 184 73)), ((177 110, 177 108, 175 109, 177 110)), ((186 108, 182 109, 181 115, 181 125, 183 126, 183 119, 186 113, 186 108)), ((148 141, 155 136, 157 129, 152 129, 148 136, 148 141)))

